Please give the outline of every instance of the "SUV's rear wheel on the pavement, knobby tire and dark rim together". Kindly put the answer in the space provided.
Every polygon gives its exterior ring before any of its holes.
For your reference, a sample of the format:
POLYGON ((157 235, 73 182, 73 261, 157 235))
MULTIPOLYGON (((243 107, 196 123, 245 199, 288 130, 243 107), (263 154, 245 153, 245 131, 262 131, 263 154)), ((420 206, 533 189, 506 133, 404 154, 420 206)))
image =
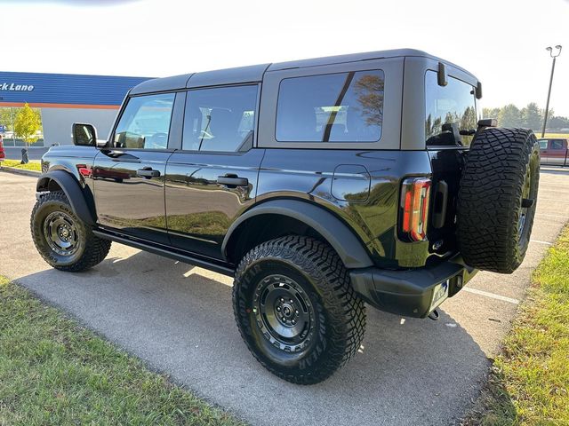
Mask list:
POLYGON ((324 381, 359 349, 365 304, 322 241, 287 236, 247 253, 233 286, 237 327, 252 355, 292 383, 324 381))

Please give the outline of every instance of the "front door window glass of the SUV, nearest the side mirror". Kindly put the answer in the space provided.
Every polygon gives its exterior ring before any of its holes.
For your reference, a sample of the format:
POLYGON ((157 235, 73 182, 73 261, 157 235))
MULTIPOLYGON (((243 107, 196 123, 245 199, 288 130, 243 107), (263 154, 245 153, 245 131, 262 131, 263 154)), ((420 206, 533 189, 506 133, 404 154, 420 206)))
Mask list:
POLYGON ((174 93, 164 93, 131 98, 116 126, 114 145, 165 149, 168 146, 174 96, 174 93))

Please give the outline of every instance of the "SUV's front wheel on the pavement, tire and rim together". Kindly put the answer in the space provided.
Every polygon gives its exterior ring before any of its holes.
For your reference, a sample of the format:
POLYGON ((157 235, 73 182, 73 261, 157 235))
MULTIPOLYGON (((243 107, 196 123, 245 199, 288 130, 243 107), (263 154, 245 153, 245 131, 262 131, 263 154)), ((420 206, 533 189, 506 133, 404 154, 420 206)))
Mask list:
POLYGON ((81 272, 100 264, 111 241, 92 233, 73 211, 62 191, 42 195, 32 210, 32 239, 45 262, 65 272, 81 272))

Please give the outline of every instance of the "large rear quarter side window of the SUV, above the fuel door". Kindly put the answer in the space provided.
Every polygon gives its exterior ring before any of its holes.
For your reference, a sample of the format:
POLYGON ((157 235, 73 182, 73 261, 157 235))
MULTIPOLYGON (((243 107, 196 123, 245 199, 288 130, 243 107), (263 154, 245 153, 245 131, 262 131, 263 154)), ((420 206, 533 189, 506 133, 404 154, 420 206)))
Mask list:
POLYGON ((381 70, 284 79, 278 91, 276 140, 380 140, 383 86, 381 70))

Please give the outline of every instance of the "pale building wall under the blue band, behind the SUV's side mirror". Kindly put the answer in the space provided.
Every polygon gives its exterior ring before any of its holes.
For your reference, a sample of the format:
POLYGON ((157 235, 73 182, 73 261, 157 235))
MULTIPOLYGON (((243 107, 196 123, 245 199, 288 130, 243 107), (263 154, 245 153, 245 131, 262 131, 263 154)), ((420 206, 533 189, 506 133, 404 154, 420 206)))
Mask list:
POLYGON ((97 128, 97 137, 106 139, 118 109, 41 108, 44 124, 44 146, 71 145, 71 125, 88 122, 97 128))

